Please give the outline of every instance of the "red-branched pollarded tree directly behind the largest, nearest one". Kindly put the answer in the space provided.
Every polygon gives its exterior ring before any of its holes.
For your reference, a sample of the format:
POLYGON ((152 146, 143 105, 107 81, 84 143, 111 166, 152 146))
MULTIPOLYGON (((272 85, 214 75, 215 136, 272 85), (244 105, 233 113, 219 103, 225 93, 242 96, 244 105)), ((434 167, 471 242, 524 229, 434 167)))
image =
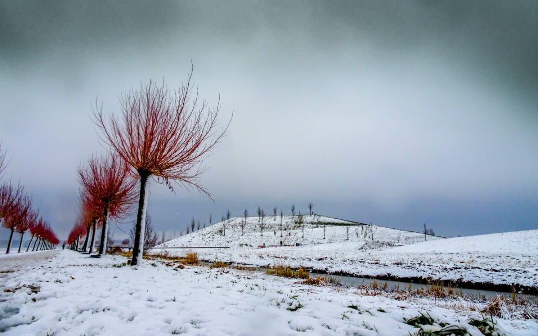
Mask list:
POLYGON ((118 156, 90 158, 86 167, 77 169, 83 190, 90 202, 101 209, 103 224, 99 254, 107 251, 108 219, 129 213, 136 199, 136 181, 130 176, 129 166, 118 156))

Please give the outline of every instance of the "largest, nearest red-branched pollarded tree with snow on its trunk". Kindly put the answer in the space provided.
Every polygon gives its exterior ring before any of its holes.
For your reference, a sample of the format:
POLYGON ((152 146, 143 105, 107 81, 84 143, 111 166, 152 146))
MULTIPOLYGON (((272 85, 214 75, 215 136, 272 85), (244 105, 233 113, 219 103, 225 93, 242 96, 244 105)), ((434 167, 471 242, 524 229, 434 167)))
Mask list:
POLYGON ((216 130, 220 102, 210 109, 206 101, 200 101, 197 90, 193 92, 191 78, 192 70, 174 92, 164 82, 158 86, 152 81, 141 84, 139 90, 126 92, 120 97, 121 121, 105 117, 102 105, 95 104, 95 123, 101 128, 102 139, 140 178, 132 266, 143 259, 149 177, 157 177, 169 188, 169 181, 176 181, 211 197, 200 184, 206 170, 200 165, 223 137, 231 119, 223 130, 216 130))

